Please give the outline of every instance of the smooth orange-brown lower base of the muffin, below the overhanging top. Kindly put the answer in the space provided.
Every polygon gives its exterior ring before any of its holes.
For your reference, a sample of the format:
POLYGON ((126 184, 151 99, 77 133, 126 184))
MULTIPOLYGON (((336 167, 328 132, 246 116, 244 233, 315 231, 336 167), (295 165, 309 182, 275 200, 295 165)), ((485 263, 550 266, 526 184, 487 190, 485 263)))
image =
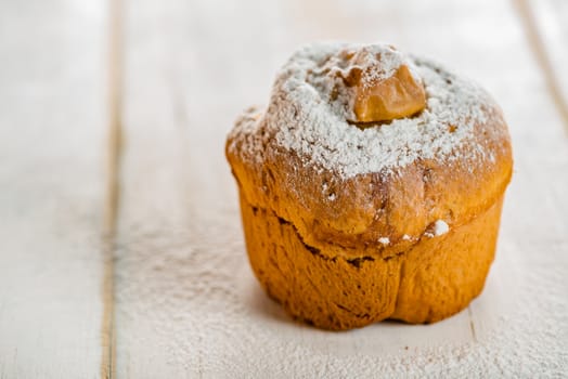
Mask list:
POLYGON ((268 295, 296 319, 345 330, 386 318, 434 323, 466 308, 493 261, 502 200, 389 258, 331 257, 243 196, 241 211, 250 265, 268 295))

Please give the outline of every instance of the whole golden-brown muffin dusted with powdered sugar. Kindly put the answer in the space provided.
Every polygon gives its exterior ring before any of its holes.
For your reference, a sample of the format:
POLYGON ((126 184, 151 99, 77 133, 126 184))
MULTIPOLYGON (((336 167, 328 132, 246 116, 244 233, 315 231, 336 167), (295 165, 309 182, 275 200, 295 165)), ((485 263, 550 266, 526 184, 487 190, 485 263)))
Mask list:
POLYGON ((391 45, 306 45, 225 154, 253 271, 294 318, 433 323, 481 292, 513 158, 474 82, 391 45))

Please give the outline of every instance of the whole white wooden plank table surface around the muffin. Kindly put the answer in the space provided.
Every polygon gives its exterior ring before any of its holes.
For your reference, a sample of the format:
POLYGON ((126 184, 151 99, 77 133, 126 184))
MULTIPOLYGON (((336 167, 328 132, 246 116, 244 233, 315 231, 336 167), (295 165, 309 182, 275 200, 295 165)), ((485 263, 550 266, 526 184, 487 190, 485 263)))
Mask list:
POLYGON ((0 378, 568 376, 568 2, 3 1, 0 378), (223 157, 306 41, 476 78, 515 149, 483 293, 429 326, 291 322, 223 157))

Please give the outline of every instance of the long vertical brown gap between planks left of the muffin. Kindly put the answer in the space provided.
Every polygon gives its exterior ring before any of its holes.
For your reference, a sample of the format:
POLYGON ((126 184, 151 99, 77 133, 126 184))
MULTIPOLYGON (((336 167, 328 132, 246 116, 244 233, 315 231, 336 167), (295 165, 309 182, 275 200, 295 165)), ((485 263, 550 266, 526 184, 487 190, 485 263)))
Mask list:
POLYGON ((114 322, 114 252, 120 198, 121 103, 122 103, 122 1, 108 0, 108 125, 106 142, 106 193, 102 254, 103 319, 101 325, 101 378, 115 377, 116 332, 114 322))

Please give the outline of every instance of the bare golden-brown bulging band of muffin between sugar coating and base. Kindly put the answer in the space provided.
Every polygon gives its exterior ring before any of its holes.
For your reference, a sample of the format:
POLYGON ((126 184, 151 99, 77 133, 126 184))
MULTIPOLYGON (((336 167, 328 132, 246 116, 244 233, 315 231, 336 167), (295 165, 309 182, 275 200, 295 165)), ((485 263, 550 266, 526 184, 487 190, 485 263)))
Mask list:
POLYGON ((466 224, 503 195, 513 171, 511 142, 499 108, 490 112, 476 126, 476 139, 491 160, 421 159, 391 173, 343 179, 280 147, 274 138, 266 140, 262 160, 241 156, 246 140, 230 138, 227 157, 247 202, 294 224, 310 246, 331 257, 386 258, 409 249, 436 221, 466 224), (486 130, 499 130, 500 138, 487 138, 486 130), (380 238, 389 244, 377 244, 380 238))

